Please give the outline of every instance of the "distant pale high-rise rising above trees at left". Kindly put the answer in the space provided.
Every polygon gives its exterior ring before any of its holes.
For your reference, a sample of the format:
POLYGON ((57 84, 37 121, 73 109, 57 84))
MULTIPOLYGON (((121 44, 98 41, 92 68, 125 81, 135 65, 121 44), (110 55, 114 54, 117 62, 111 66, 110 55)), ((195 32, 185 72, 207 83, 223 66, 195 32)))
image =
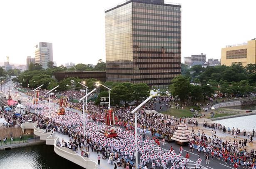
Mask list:
POLYGON ((35 46, 35 63, 42 65, 42 68, 47 68, 47 63, 52 61, 52 43, 39 42, 35 46))

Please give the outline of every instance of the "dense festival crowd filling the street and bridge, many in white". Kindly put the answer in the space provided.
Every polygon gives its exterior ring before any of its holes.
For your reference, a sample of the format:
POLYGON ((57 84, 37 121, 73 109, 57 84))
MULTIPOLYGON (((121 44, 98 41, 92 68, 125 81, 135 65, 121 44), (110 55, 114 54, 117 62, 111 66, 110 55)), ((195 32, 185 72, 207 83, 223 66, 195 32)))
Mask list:
MULTIPOLYGON (((162 101, 166 101, 167 98, 162 101)), ((185 119, 178 119, 173 116, 162 115, 159 113, 154 113, 154 110, 157 101, 159 99, 155 98, 152 101, 149 101, 142 109, 137 113, 137 123, 138 127, 141 128, 141 135, 138 136, 139 142, 139 153, 140 153, 140 164, 144 169, 147 167, 166 167, 168 164, 171 165, 171 169, 184 168, 189 162, 188 159, 181 157, 180 153, 176 153, 174 150, 163 150, 159 147, 158 138, 163 138, 170 140, 172 134, 177 130, 177 125, 181 121, 186 121, 185 119), (153 136, 152 139, 145 138, 146 130, 151 131, 153 136)), ((167 101, 169 101, 167 99, 167 101)), ((160 101, 161 102, 161 101, 160 101)), ((28 102, 26 107, 28 109, 34 109, 34 104, 28 102)), ((178 105, 179 106, 179 105, 178 105)), ((81 109, 81 104, 72 104, 73 108, 81 109)), ((73 111, 72 109, 66 110, 66 115, 59 116, 56 112, 58 109, 54 107, 48 107, 48 104, 39 103, 36 105, 37 114, 32 114, 31 116, 20 116, 18 121, 23 123, 27 120, 33 122, 38 122, 38 127, 45 129, 47 132, 52 133, 61 133, 62 135, 67 135, 69 140, 65 141, 64 139, 58 144, 62 147, 70 148, 71 150, 81 153, 82 156, 90 157, 89 150, 96 153, 101 153, 104 159, 109 159, 108 163, 127 167, 127 162, 129 166, 133 166, 134 163, 134 151, 135 151, 135 135, 134 135, 134 114, 130 112, 135 108, 135 106, 128 107, 116 107, 113 109, 115 116, 117 116, 118 121, 116 122, 119 138, 107 138, 102 131, 108 129, 104 123, 99 125, 98 122, 104 122, 104 115, 106 110, 103 109, 104 106, 96 106, 94 103, 89 102, 87 106, 87 130, 84 136, 82 130, 82 116, 73 111), (50 111, 50 118, 49 118, 50 111), (90 122, 93 120, 95 122, 90 122), (115 164, 117 162, 117 164, 115 164)), ((13 121, 13 116, 11 113, 5 112, 5 118, 8 121, 13 121)), ((195 119, 189 119, 189 124, 198 125, 198 122, 195 119)), ((219 124, 207 125, 204 123, 204 126, 213 129, 223 129, 223 126, 219 124)), ((232 130, 233 131, 233 130, 232 130)), ((231 131, 231 132, 232 132, 231 131)), ((236 130, 237 131, 237 130, 236 130)), ((206 134, 202 132, 200 136, 194 133, 192 129, 194 141, 191 142, 192 150, 197 149, 200 154, 201 151, 205 155, 209 154, 210 157, 216 157, 220 160, 230 160, 234 163, 234 160, 239 164, 241 162, 246 162, 246 166, 251 165, 255 159, 255 151, 246 152, 245 150, 240 151, 242 147, 246 147, 247 140, 244 141, 223 141, 221 138, 214 137, 214 132, 212 137, 206 137, 206 134), (212 155, 213 154, 213 155, 212 155), (240 162, 240 159, 241 160, 240 162)), ((198 166, 201 165, 201 159, 197 160, 196 163, 198 166)), ((243 163, 245 164, 245 163, 243 163)))

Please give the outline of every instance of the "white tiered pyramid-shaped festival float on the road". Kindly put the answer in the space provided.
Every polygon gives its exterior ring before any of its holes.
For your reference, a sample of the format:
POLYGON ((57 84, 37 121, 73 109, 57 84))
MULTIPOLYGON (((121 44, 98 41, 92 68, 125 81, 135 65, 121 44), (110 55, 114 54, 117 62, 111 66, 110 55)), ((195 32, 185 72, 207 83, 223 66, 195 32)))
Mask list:
POLYGON ((178 125, 178 129, 174 132, 171 139, 175 140, 178 145, 187 145, 190 141, 194 140, 184 121, 181 121, 178 125))

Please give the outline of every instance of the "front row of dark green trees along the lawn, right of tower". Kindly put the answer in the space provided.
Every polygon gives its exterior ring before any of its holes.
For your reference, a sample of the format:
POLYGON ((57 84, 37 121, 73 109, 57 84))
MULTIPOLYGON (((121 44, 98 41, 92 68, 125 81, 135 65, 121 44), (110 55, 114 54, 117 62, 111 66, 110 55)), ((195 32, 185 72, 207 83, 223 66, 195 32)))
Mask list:
POLYGON ((227 80, 216 80, 209 79, 208 81, 202 80, 202 82, 195 78, 192 80, 191 77, 177 76, 172 81, 173 83, 169 86, 169 90, 173 96, 179 96, 181 102, 192 99, 199 101, 208 97, 213 97, 213 94, 219 95, 225 94, 226 96, 245 96, 251 92, 256 92, 256 86, 251 85, 248 80, 241 80, 239 82, 228 82, 227 80))

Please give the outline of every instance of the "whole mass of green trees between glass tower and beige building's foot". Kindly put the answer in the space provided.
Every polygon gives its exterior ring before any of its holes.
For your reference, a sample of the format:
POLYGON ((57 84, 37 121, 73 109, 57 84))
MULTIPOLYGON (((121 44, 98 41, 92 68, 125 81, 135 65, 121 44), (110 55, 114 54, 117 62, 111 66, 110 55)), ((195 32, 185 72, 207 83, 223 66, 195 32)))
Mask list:
POLYGON ((236 63, 207 68, 201 65, 187 68, 182 65, 181 71, 182 75, 175 77, 169 86, 171 94, 179 96, 181 101, 205 101, 214 94, 241 97, 256 92, 256 64, 243 67, 241 63, 236 63))

